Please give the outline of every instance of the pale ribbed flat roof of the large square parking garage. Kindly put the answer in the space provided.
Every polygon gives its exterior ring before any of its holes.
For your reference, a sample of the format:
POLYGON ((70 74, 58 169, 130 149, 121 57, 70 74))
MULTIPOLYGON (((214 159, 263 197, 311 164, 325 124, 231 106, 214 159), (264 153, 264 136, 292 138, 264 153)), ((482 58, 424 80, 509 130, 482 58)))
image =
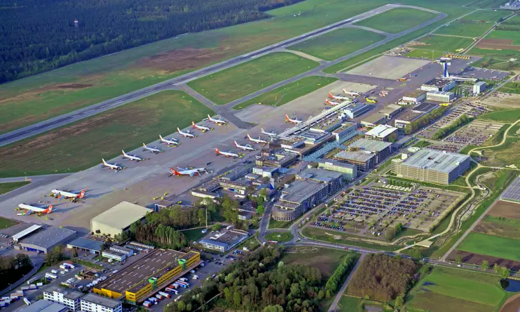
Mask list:
POLYGON ((468 155, 458 153, 447 153, 428 148, 418 150, 417 153, 408 157, 401 165, 414 168, 428 168, 442 173, 450 173, 460 163, 468 159, 468 155))

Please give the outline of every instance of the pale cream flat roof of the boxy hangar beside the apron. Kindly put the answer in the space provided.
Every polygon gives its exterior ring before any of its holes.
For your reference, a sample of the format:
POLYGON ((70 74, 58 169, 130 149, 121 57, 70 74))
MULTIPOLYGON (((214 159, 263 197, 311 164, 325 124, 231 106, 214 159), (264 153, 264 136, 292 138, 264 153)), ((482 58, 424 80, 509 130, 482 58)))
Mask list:
POLYGON ((132 204, 131 202, 120 202, 102 214, 92 218, 92 221, 103 223, 110 227, 124 229, 141 218, 144 218, 152 210, 132 204))

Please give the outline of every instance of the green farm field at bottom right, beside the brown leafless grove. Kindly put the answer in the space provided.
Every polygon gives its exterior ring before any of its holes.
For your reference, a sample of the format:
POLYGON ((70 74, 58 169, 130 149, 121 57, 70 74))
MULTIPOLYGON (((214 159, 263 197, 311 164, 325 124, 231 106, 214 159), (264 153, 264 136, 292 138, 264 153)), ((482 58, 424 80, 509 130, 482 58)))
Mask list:
POLYGON ((431 312, 494 311, 505 297, 500 277, 435 267, 410 294, 407 307, 431 312))

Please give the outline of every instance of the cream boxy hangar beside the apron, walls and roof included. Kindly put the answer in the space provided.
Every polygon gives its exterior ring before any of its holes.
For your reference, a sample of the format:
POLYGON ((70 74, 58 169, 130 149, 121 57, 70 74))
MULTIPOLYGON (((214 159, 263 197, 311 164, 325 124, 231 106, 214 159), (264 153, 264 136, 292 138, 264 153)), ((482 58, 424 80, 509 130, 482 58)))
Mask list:
POLYGON ((128 231, 135 221, 144 220, 150 209, 132 204, 120 202, 102 214, 90 220, 90 230, 94 235, 110 235, 114 237, 123 231, 128 231))

